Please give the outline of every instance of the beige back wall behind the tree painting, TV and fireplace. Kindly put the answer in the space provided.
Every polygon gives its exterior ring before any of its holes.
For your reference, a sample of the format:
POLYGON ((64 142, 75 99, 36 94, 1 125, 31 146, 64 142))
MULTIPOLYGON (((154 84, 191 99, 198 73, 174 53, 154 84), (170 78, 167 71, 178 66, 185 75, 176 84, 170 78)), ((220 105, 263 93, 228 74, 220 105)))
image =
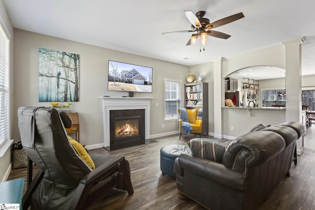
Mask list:
POLYGON ((16 114, 18 107, 50 106, 49 102, 38 102, 39 48, 80 55, 79 102, 71 105, 71 111, 79 113, 80 143, 87 146, 103 143, 102 100, 99 97, 127 95, 127 92, 107 90, 108 60, 153 67, 153 93, 135 93, 134 97, 154 97, 151 100, 150 122, 150 134, 153 137, 178 131, 177 121, 164 122, 164 77, 181 79, 184 84, 188 66, 15 29, 13 123, 16 141, 20 139, 16 114), (164 128, 162 124, 165 124, 164 128))

